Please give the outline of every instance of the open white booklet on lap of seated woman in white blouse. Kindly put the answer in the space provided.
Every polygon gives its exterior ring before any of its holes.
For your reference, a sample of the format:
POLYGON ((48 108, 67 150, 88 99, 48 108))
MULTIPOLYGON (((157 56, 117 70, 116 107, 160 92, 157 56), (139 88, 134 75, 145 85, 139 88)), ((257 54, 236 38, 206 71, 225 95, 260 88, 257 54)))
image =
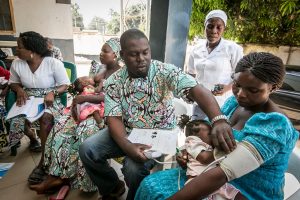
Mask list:
POLYGON ((23 106, 17 106, 16 103, 9 110, 6 120, 16 117, 25 116, 30 122, 34 122, 39 119, 45 112, 44 98, 29 97, 26 104, 23 106))

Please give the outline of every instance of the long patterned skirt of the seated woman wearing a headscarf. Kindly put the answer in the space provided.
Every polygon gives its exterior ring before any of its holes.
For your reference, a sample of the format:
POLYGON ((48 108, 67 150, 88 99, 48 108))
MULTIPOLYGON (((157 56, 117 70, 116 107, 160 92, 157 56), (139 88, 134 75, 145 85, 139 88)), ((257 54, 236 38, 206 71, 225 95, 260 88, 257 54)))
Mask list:
POLYGON ((76 124, 71 114, 62 116, 49 134, 46 147, 44 165, 48 174, 67 178, 71 187, 85 192, 96 191, 79 158, 80 144, 97 133, 100 127, 90 116, 76 124))

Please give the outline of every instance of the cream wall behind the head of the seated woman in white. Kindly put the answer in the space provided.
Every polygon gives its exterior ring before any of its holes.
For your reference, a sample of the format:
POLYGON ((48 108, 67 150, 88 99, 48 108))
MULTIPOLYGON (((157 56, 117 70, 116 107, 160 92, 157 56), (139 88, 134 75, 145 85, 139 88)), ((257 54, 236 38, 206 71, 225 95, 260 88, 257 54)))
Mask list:
MULTIPOLYGON (((70 4, 59 4, 55 0, 13 0, 12 3, 16 26, 15 40, 20 32, 36 31, 52 38, 54 45, 61 49, 64 59, 74 62, 70 4)), ((7 36, 9 37, 11 36, 7 36)))

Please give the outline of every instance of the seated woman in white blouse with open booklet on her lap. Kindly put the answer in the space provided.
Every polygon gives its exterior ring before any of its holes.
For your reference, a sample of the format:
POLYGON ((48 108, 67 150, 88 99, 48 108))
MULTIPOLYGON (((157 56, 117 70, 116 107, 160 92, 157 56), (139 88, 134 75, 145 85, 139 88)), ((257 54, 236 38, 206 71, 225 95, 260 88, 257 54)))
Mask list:
MULTIPOLYGON (((60 102, 59 94, 66 91, 70 80, 63 63, 50 57, 46 39, 42 35, 33 31, 20 33, 17 44, 16 53, 19 58, 11 65, 9 84, 17 94, 16 104, 19 106, 24 105, 29 96, 45 99, 48 109, 38 120, 43 155, 53 119, 62 115, 64 106, 60 102)), ((11 146, 17 144, 25 133, 30 138, 30 149, 34 151, 40 148, 34 132, 29 128, 30 125, 24 117, 11 120, 9 132, 11 146)), ((32 174, 40 171, 42 163, 43 156, 32 174)))

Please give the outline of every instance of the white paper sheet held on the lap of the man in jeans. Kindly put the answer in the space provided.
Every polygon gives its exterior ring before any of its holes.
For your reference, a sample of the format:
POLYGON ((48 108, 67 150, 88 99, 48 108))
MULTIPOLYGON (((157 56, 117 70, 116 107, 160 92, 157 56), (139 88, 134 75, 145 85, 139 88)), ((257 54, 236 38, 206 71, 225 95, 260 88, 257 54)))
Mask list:
POLYGON ((128 140, 132 143, 140 143, 152 146, 151 150, 162 154, 175 155, 177 138, 180 129, 138 129, 134 128, 128 140))

